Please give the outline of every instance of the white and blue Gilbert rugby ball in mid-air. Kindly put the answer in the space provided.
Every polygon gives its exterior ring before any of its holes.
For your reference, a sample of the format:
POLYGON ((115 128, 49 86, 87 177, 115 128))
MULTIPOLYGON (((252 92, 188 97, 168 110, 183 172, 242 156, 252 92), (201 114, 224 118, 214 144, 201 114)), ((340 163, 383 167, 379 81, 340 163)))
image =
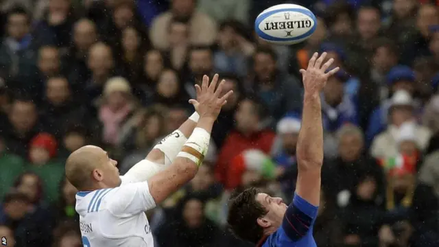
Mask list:
POLYGON ((279 45, 293 45, 306 40, 316 30, 316 16, 305 7, 283 3, 259 14, 254 30, 263 40, 279 45))

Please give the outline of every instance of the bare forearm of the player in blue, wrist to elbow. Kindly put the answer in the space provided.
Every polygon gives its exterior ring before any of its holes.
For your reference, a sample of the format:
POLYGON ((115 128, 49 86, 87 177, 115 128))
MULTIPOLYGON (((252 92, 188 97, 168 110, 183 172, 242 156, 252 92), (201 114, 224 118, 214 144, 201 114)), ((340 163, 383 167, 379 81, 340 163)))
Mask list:
POLYGON ((302 128, 297 143, 299 168, 320 167, 323 163, 323 128, 320 95, 307 94, 303 100, 302 128))

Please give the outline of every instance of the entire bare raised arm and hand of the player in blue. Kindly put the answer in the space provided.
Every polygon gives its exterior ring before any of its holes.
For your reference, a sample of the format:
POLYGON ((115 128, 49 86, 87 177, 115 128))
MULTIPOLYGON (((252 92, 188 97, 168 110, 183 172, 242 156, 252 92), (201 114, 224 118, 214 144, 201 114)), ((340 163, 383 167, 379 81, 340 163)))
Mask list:
POLYGON ((320 92, 329 76, 338 71, 338 67, 326 73, 331 66, 331 58, 324 64, 323 53, 313 54, 307 70, 301 69, 305 89, 302 111, 302 128, 297 143, 298 178, 296 194, 310 204, 318 206, 320 202, 320 172, 323 163, 323 127, 320 92))

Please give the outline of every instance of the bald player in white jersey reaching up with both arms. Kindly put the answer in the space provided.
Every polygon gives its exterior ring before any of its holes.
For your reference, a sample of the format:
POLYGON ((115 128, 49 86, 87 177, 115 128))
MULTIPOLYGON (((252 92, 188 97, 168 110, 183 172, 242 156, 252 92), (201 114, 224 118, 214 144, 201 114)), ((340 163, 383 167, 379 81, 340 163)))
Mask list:
POLYGON ((80 215, 84 247, 154 246, 144 212, 163 202, 198 171, 209 147, 213 122, 233 93, 222 95, 222 83, 215 89, 217 80, 215 75, 209 84, 204 75, 202 86, 195 86, 197 100, 189 102, 201 117, 189 118, 125 176, 119 176, 117 162, 99 147, 85 146, 69 156, 66 176, 79 191, 75 209, 80 215))

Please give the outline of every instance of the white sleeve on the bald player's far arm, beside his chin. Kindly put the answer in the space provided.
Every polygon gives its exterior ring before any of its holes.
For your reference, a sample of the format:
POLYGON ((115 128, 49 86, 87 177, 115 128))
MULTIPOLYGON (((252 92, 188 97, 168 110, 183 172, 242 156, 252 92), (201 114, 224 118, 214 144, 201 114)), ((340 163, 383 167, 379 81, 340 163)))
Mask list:
POLYGON ((165 165, 157 164, 146 159, 139 161, 123 176, 130 183, 144 182, 165 169, 165 165))

